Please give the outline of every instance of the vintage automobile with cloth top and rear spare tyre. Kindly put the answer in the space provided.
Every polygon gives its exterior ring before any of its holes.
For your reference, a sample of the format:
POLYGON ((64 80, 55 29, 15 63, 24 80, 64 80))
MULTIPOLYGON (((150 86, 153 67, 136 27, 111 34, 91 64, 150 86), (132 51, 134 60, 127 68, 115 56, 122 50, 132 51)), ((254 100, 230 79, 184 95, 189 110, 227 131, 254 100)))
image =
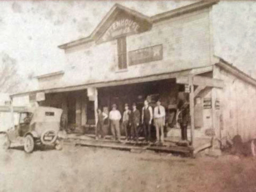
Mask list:
POLYGON ((12 143, 24 145, 31 153, 35 146, 54 145, 63 148, 65 131, 61 130, 62 109, 52 107, 27 108, 19 113, 19 123, 5 133, 4 148, 12 143))

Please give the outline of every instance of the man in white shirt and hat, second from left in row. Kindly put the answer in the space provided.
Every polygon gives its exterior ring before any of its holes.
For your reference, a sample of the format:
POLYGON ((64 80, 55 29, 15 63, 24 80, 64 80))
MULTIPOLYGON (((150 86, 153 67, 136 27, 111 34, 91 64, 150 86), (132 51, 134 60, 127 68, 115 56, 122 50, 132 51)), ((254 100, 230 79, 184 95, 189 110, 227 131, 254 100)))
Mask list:
POLYGON ((118 142, 121 142, 121 135, 120 135, 120 119, 121 113, 117 110, 117 105, 112 105, 112 110, 109 112, 109 119, 111 123, 111 132, 113 137, 118 139, 118 142))

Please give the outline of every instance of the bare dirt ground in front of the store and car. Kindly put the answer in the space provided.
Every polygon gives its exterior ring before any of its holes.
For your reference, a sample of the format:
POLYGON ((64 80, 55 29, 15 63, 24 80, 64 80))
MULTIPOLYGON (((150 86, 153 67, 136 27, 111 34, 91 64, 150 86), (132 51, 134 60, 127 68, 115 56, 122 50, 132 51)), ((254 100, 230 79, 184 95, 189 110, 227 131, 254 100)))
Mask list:
POLYGON ((256 159, 196 159, 67 144, 0 151, 0 192, 256 192, 256 159))

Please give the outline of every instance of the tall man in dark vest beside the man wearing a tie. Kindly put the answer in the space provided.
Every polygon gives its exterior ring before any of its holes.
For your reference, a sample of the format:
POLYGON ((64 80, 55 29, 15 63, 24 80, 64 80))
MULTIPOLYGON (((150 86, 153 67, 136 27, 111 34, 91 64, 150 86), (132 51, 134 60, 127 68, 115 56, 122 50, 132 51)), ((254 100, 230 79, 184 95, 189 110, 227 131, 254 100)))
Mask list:
POLYGON ((146 142, 151 141, 151 122, 153 118, 152 107, 148 105, 148 100, 144 101, 144 107, 142 108, 142 124, 144 129, 144 136, 146 142))

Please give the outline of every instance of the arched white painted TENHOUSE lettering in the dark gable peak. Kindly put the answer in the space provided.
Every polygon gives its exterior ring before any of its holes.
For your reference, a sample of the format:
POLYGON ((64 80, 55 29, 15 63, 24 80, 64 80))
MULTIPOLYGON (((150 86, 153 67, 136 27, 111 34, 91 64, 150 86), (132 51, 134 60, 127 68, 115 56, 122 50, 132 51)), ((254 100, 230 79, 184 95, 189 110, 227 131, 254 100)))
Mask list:
POLYGON ((138 33, 140 26, 131 19, 121 19, 115 21, 103 35, 103 40, 113 39, 122 34, 138 33))

